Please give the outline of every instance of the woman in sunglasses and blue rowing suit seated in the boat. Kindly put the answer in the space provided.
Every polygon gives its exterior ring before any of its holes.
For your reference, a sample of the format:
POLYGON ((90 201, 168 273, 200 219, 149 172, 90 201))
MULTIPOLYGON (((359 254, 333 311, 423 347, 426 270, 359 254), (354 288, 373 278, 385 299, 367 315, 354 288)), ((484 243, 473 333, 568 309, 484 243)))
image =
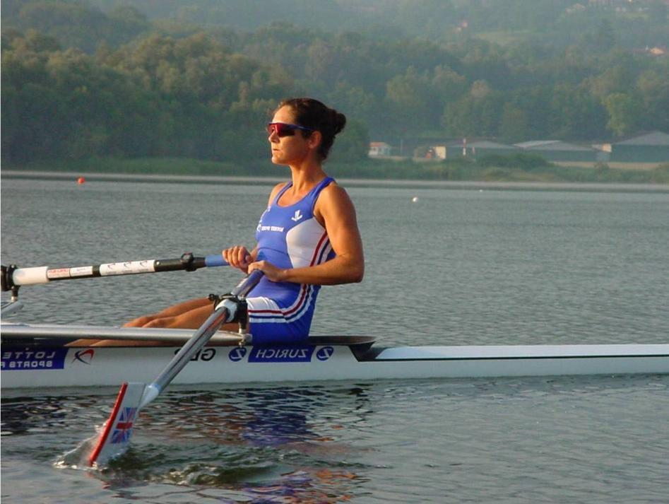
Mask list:
MULTIPOLYGON (((230 266, 245 274, 264 272, 247 296, 254 343, 306 339, 320 286, 362 281, 365 261, 355 208, 345 190, 323 170, 345 123, 343 114, 318 100, 292 98, 280 102, 267 125, 272 163, 287 165, 291 180, 272 189, 256 228, 256 246, 223 250, 230 266)), ((201 298, 125 325, 197 329, 212 311, 211 301, 201 298)), ((223 329, 236 327, 227 324, 223 329)), ((127 342, 95 343, 116 344, 127 342)))

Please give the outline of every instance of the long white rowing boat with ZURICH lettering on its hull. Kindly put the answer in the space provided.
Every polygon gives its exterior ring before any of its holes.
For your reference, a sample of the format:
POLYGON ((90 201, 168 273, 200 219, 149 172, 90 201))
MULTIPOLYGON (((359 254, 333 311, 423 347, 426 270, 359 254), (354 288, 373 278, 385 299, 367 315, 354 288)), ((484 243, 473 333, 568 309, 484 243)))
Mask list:
MULTIPOLYGON (((1 324, 3 389, 150 381, 189 329, 1 324), (162 339, 170 346, 65 346, 80 338, 162 339)), ((314 336, 254 346, 218 332, 175 384, 669 373, 669 344, 396 346, 370 336, 314 336)))

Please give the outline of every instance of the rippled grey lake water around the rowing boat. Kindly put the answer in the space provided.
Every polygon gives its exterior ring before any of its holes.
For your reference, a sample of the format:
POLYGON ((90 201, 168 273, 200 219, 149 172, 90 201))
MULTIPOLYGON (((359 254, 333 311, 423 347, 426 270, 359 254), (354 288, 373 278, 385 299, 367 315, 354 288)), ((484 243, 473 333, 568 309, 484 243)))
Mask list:
MULTIPOLYGON (((83 266, 253 245, 270 189, 4 178, 2 262, 83 266)), ((668 192, 348 191, 365 281, 323 288, 312 334, 384 345, 668 342, 668 192)), ((24 287, 16 319, 120 324, 239 278, 220 268, 24 287)), ((54 466, 107 418, 116 393, 3 392, 2 501, 668 502, 667 376, 174 387, 143 411, 111 468, 54 466)))

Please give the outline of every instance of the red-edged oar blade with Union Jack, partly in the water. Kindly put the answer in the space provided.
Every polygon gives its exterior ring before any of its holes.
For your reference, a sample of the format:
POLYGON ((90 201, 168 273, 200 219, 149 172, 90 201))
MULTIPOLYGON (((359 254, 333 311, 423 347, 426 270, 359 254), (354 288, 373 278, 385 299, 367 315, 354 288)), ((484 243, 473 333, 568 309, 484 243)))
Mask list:
POLYGON ((143 383, 124 383, 114 403, 109 420, 102 427, 93 452, 88 457, 88 465, 102 465, 114 457, 122 455, 130 445, 132 427, 139 414, 143 383))

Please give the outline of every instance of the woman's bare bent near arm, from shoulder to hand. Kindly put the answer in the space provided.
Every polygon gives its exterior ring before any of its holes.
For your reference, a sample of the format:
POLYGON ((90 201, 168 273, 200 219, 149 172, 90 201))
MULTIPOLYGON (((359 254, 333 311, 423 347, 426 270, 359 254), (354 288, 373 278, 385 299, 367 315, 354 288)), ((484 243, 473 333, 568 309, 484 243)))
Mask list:
POLYGON ((337 285, 362 281, 365 274, 365 257, 362 238, 357 228, 355 207, 342 187, 328 185, 316 200, 314 216, 321 222, 336 257, 316 266, 279 269, 259 261, 249 265, 249 271, 261 269, 268 279, 316 285, 337 285))

